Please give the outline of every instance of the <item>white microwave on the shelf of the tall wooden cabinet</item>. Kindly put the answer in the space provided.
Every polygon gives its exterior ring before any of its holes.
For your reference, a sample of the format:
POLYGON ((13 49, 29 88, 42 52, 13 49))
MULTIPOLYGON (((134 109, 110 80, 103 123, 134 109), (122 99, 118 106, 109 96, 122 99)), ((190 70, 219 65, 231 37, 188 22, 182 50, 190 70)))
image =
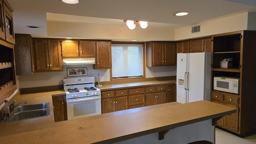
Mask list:
POLYGON ((214 90, 239 94, 240 78, 225 76, 214 77, 214 90))

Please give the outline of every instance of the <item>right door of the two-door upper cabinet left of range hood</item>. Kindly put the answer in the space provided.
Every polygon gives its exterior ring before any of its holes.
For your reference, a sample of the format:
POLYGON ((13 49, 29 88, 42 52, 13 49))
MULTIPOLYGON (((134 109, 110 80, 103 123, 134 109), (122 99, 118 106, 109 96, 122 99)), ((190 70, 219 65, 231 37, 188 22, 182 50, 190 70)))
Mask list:
POLYGON ((48 40, 50 70, 62 70, 60 40, 48 40))

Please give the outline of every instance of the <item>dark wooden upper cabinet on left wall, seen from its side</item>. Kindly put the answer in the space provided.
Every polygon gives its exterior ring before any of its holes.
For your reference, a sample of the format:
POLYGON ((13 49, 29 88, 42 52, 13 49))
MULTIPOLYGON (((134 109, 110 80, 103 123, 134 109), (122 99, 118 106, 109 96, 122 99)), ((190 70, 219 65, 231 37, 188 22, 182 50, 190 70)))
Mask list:
POLYGON ((16 75, 31 75, 35 72, 35 50, 30 34, 15 34, 16 75))

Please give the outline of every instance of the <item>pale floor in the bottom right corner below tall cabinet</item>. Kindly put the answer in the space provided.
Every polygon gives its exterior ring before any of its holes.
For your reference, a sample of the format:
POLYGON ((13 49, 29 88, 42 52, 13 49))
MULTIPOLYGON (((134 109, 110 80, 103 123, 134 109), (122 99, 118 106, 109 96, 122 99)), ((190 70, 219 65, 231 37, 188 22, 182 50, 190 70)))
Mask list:
POLYGON ((218 128, 215 128, 216 144, 256 144, 256 134, 246 138, 240 138, 218 128))

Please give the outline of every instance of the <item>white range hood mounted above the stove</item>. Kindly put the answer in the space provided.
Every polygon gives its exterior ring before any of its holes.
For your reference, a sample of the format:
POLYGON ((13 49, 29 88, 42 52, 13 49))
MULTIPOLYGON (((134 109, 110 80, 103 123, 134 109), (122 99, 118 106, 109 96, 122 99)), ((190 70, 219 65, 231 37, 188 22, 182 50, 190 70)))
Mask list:
POLYGON ((95 58, 63 58, 63 65, 95 64, 95 58))

